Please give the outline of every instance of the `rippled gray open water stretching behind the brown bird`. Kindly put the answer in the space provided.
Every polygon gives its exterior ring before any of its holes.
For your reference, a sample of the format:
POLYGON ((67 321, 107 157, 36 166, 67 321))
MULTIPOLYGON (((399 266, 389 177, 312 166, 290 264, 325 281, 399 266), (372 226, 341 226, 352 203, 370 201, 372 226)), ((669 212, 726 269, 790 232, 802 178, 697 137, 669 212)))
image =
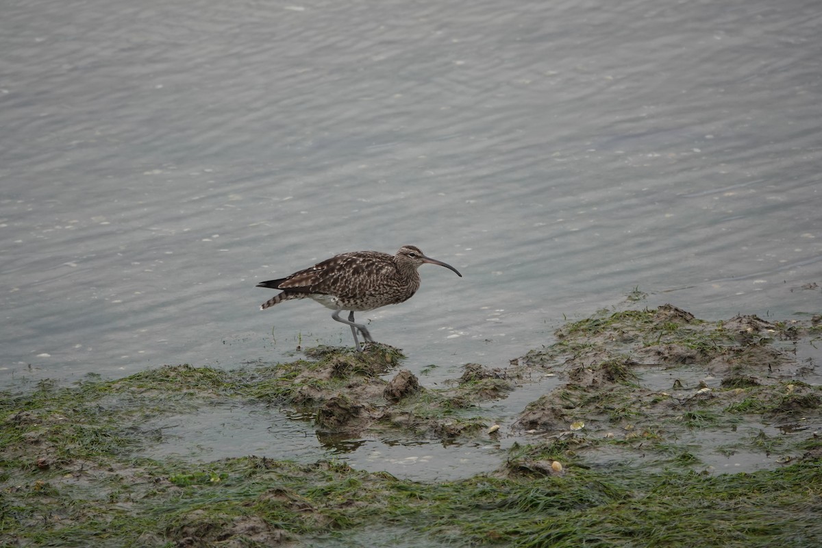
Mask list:
POLYGON ((813 0, 5 2, 0 389, 349 344, 255 284, 406 243, 464 278, 358 319, 431 386, 635 288, 819 313, 820 27, 813 0))

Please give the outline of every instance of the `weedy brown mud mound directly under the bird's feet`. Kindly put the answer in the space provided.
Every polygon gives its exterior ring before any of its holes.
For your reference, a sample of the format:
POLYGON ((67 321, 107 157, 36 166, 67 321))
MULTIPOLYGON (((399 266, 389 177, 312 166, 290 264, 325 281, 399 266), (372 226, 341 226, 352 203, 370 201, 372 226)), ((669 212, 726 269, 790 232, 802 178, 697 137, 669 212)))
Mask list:
POLYGON ((490 425, 478 403, 505 398, 513 380, 478 364, 446 389, 428 389, 398 368, 398 349, 371 344, 363 352, 313 348, 309 359, 256 368, 248 381, 263 401, 313 417, 319 435, 372 434, 452 441, 490 425), (394 372, 396 371, 396 372, 394 372))

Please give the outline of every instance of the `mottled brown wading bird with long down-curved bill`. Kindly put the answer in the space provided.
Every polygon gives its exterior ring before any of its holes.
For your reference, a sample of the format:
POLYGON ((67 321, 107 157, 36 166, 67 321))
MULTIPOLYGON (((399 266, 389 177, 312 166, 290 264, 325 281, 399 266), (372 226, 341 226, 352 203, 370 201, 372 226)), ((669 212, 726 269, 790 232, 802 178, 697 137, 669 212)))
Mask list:
POLYGON ((331 257, 285 278, 257 283, 258 288, 283 291, 264 302, 260 310, 291 299, 314 299, 334 311, 332 318, 351 326, 354 346, 360 350, 358 331, 366 343, 373 343, 374 339, 365 325, 354 323, 354 311, 372 311, 408 301, 419 289, 417 269, 423 263, 445 266, 462 278, 453 266, 424 256, 415 246, 402 246, 393 256, 380 251, 354 251, 331 257), (340 318, 340 311, 350 311, 349 319, 340 318))

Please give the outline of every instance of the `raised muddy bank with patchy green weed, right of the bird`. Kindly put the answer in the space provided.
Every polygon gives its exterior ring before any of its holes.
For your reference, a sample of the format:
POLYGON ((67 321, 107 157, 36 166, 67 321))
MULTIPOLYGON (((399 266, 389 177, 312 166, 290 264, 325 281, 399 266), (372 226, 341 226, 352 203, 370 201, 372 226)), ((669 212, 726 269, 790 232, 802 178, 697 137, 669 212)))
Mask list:
POLYGON ((538 440, 524 454, 713 472, 778 466, 819 447, 822 391, 805 381, 815 364, 796 356, 801 340, 819 338, 818 320, 706 322, 666 305, 556 335, 520 360, 562 381, 512 426, 538 440))

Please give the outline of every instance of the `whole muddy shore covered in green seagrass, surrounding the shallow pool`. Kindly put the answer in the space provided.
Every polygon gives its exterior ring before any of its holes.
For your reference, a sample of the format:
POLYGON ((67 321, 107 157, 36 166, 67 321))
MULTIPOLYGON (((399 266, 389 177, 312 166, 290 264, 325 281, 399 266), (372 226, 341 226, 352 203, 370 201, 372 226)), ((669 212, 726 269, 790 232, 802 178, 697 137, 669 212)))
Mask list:
POLYGON ((233 371, 163 366, 0 392, 0 546, 822 546, 820 317, 600 311, 445 388, 373 344, 233 371), (385 377, 389 377, 386 380, 385 377), (554 377, 496 424, 483 403, 554 377), (158 417, 232 403, 357 439, 517 441, 499 467, 420 482, 343 461, 153 459, 158 417), (767 458, 718 473, 720 457, 767 458))

